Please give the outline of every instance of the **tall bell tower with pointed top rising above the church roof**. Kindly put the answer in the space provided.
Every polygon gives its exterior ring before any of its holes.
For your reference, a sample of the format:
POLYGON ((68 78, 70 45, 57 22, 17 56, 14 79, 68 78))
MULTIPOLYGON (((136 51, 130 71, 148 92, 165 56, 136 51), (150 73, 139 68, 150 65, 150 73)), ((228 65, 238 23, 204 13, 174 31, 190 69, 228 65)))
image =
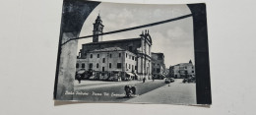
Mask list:
POLYGON ((103 25, 102 25, 102 21, 100 19, 100 16, 98 14, 98 16, 96 17, 96 22, 94 24, 94 36, 93 36, 93 42, 98 42, 98 41, 102 41, 102 35, 98 35, 101 34, 103 32, 103 25))

